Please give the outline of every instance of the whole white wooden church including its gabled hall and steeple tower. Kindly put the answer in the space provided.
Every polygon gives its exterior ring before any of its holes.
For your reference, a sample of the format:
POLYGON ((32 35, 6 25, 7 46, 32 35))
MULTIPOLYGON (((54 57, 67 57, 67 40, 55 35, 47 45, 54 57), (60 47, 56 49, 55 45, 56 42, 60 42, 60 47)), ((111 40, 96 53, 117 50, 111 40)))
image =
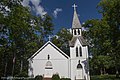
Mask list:
POLYGON ((60 78, 90 80, 88 44, 82 36, 76 5, 74 5, 71 33, 73 37, 69 42, 70 56, 48 41, 28 59, 29 76, 42 75, 44 78, 52 78, 53 74, 59 74, 60 78))

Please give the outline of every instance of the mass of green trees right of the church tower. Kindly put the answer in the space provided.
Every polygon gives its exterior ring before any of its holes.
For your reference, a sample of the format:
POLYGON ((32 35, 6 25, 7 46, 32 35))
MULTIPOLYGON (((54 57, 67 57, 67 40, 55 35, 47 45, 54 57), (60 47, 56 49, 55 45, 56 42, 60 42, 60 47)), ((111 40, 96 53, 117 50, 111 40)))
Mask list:
POLYGON ((114 67, 118 74, 120 69, 120 1, 101 0, 97 7, 102 14, 102 19, 88 20, 84 25, 87 28, 86 37, 90 43, 92 59, 97 61, 97 63, 91 62, 91 65, 105 69, 114 67))

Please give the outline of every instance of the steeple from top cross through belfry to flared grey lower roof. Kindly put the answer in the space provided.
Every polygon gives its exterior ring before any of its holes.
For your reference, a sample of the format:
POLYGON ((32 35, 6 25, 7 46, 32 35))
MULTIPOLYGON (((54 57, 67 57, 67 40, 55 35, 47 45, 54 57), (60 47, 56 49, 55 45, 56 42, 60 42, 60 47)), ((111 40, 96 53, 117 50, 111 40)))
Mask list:
POLYGON ((72 7, 74 7, 73 22, 72 22, 73 38, 70 41, 70 46, 74 47, 74 44, 75 44, 77 39, 80 41, 82 46, 86 46, 87 42, 82 37, 82 26, 81 26, 81 23, 79 21, 79 18, 78 18, 78 15, 77 15, 77 11, 76 11, 77 5, 74 4, 72 7))

